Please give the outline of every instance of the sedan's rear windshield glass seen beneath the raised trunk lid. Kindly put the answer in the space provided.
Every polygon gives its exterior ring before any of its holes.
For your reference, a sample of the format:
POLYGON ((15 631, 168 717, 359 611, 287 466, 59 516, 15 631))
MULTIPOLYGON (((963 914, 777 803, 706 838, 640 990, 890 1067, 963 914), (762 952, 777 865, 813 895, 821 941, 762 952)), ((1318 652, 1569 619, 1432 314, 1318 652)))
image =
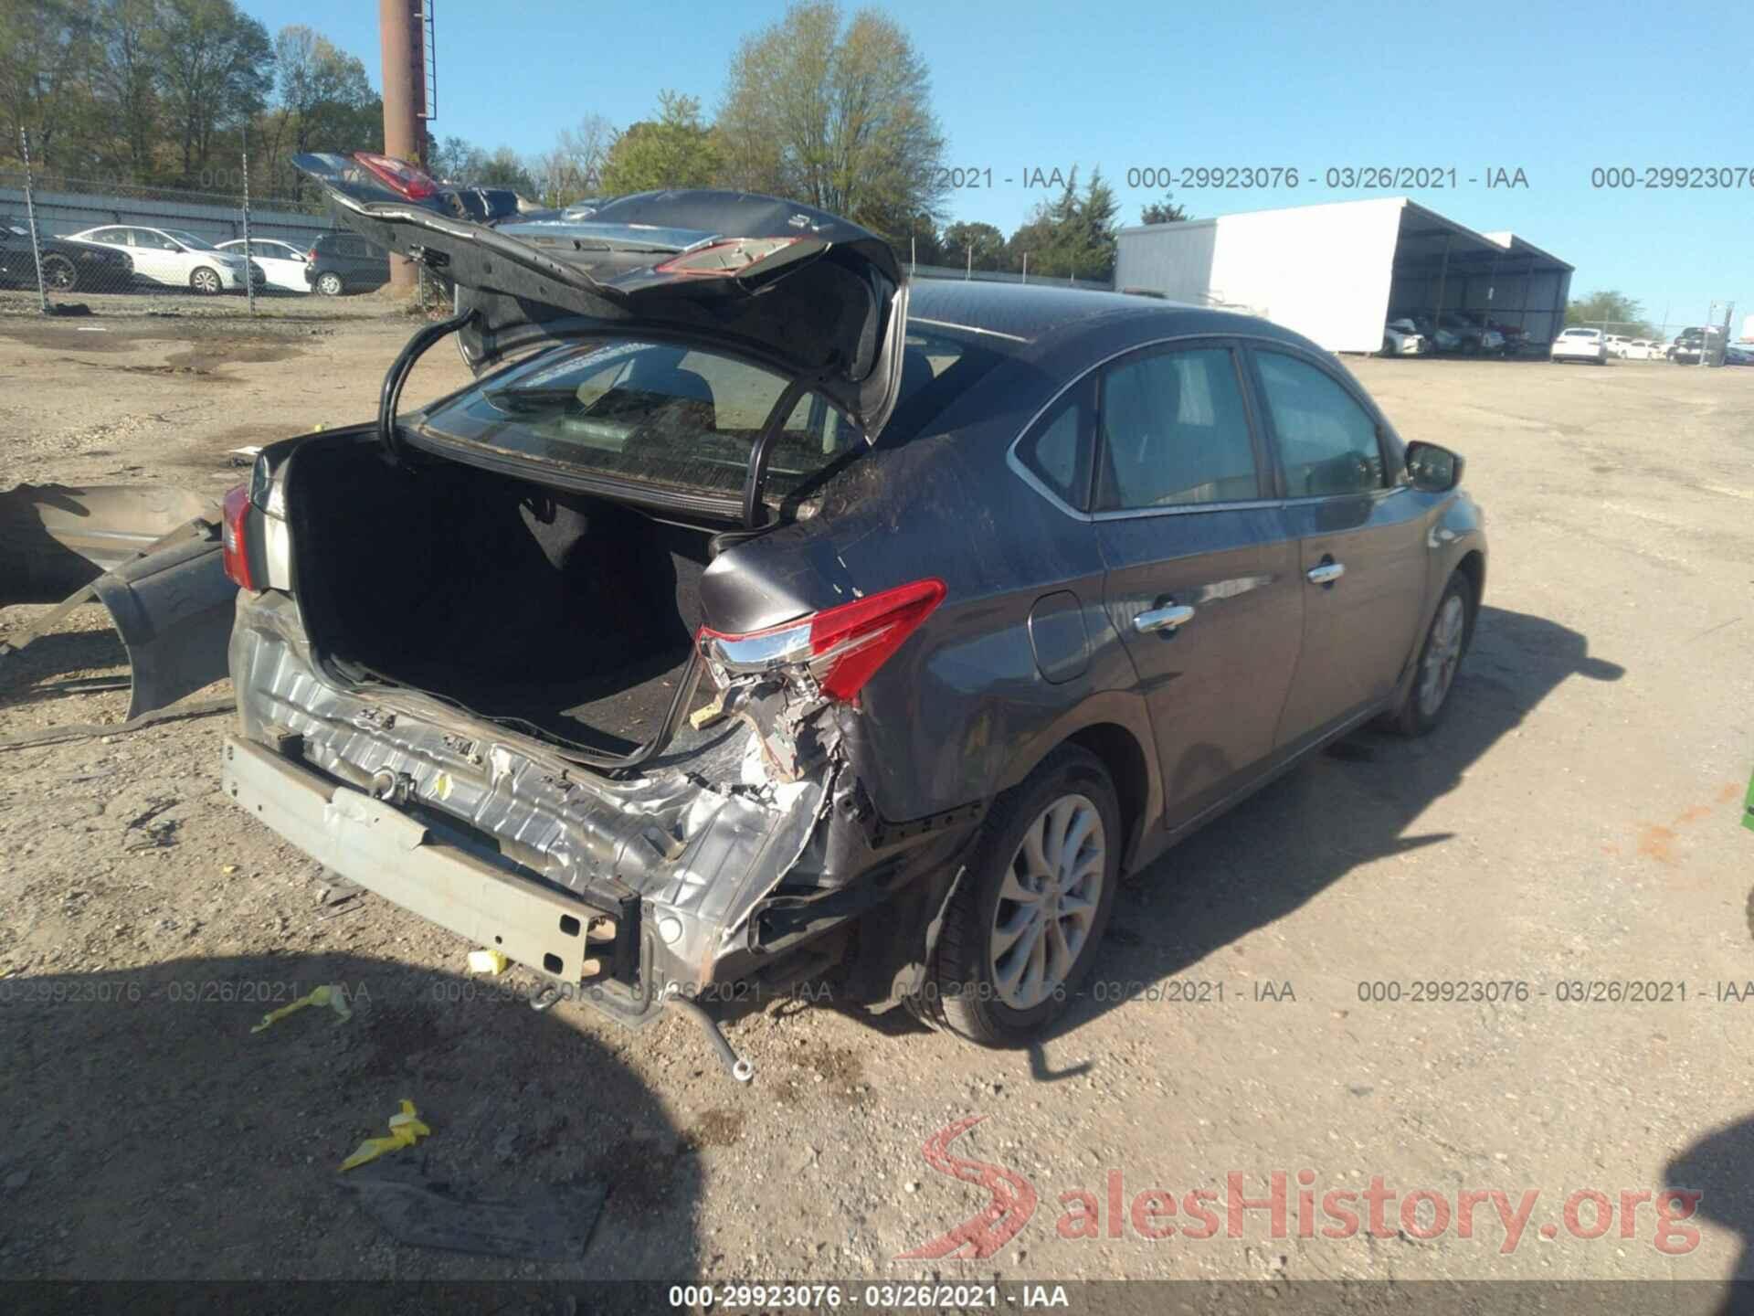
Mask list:
MULTIPOLYGON (((693 493, 742 493, 749 453, 786 381, 744 361, 654 342, 589 342, 538 356, 440 405, 424 425, 451 439, 588 474, 693 493)), ((765 493, 784 497, 858 428, 805 395, 768 454, 765 493)))

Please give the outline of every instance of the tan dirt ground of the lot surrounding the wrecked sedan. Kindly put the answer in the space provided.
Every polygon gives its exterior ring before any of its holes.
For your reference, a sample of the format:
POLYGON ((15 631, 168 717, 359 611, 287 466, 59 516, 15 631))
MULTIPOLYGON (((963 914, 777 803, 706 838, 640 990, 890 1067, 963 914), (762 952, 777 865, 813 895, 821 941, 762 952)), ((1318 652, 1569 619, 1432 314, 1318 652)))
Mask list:
MULTIPOLYGON (((228 449, 367 418, 410 328, 379 298, 95 309, 0 302, 0 490, 217 495, 228 449)), ((1033 1053, 791 1000, 730 1026, 740 1086, 681 1019, 537 1014, 449 933, 324 904, 317 865, 219 797, 223 716, 0 751, 0 1276, 1754 1276, 1754 370, 1349 365, 1405 437, 1466 454, 1487 509, 1452 718, 1349 740, 1130 884, 1098 984, 1033 1053), (1414 1000, 1487 981, 1508 998, 1414 1000), (351 1019, 251 1032, 324 983, 351 1019), (1673 986, 1572 1000, 1591 983, 1673 986), (393 1155, 430 1179, 607 1184, 584 1258, 393 1242, 337 1165, 402 1098, 431 1135, 393 1155), (902 1258, 991 1200, 923 1151, 972 1116, 951 1151, 1026 1181, 1033 1218, 984 1260, 902 1258), (1226 1228, 1228 1176, 1259 1200, 1273 1172, 1284 1237, 1266 1209, 1226 1228), (1298 1193, 1373 1176, 1398 1193, 1380 1230, 1301 1235, 1298 1193), (1636 1193, 1666 1188, 1703 1198, 1659 1237, 1636 1193), (1216 1237, 1112 1214, 1145 1190, 1212 1190, 1216 1237), (1426 1239, 1414 1190, 1445 1216, 1468 1190, 1538 1200, 1514 1246, 1491 1204, 1426 1239), (1600 1237, 1596 1198, 1565 1216, 1579 1190, 1608 1202, 1600 1237)), ((440 349, 409 398, 463 377, 440 349)), ((0 609, 0 637, 37 612, 0 609)), ((0 739, 118 721, 121 663, 86 609, 5 676, 0 739)))

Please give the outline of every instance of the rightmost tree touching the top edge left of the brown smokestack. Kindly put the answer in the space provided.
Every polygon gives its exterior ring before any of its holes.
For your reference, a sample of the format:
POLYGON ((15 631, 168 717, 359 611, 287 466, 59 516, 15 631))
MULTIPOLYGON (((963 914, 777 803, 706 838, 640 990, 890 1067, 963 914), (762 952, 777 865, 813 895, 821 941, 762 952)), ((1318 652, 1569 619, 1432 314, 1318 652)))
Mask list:
POLYGON ((165 0, 161 95, 182 179, 212 158, 223 132, 254 119, 274 86, 274 47, 232 0, 165 0))

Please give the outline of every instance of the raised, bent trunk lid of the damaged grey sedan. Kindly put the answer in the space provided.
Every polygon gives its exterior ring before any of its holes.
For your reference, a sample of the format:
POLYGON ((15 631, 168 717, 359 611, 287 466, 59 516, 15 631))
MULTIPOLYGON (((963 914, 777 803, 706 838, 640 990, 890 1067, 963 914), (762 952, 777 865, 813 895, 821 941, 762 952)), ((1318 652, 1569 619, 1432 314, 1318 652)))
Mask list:
POLYGON ((458 288, 477 374, 547 340, 642 335, 745 354, 875 439, 902 375, 907 286, 888 244, 775 197, 651 191, 530 209, 388 156, 298 154, 344 225, 458 288))

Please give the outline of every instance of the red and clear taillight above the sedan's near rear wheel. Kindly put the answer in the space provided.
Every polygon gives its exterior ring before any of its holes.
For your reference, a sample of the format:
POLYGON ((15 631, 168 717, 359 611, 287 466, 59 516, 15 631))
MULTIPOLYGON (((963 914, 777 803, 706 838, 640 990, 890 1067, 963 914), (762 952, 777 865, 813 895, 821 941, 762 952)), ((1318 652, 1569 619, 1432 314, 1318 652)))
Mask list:
POLYGON ((851 702, 942 602, 944 581, 914 581, 744 635, 703 626, 700 647, 721 686, 805 667, 824 695, 851 702))

